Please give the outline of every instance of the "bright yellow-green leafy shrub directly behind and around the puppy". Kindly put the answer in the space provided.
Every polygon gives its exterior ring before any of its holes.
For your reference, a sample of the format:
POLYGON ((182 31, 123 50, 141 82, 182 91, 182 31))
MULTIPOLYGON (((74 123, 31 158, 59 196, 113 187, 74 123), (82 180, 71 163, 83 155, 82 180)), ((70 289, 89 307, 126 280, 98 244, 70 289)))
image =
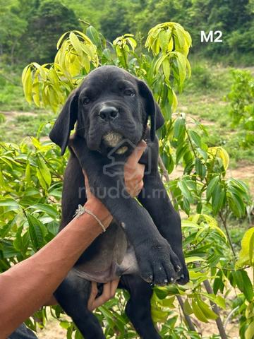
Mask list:
MULTIPOLYGON (((246 215, 250 205, 248 187, 226 177, 229 156, 222 147, 208 147, 204 141, 207 130, 202 124, 189 121, 184 114, 171 115, 177 106, 176 90, 181 92, 191 73, 187 59, 190 45, 190 35, 178 23, 152 28, 144 52, 133 35, 122 35, 111 44, 92 26, 85 34, 66 32, 59 40, 53 64, 32 63, 25 67, 25 96, 38 106, 56 111, 85 74, 102 64, 123 67, 147 81, 167 121, 159 131, 159 151, 164 160, 161 169, 176 209, 188 215, 183 220, 183 247, 191 275, 191 282, 183 287, 155 287, 153 319, 163 338, 200 338, 195 326, 194 331, 188 328, 190 316, 195 322, 218 321, 222 317, 219 309, 228 312, 228 306, 237 307, 234 316, 241 322, 240 336, 250 339, 254 326, 253 283, 245 268, 253 266, 253 228, 243 237, 239 257, 227 228, 229 216, 246 215), (73 58, 70 51, 75 51, 73 58), (168 182, 168 173, 177 165, 183 167, 183 175, 168 182), (240 292, 233 302, 225 303, 231 288, 240 292), (179 316, 178 302, 188 326, 179 316)), ((60 157, 59 149, 49 141, 40 142, 41 132, 20 145, 1 143, 2 271, 33 254, 56 234, 66 157, 60 157)), ((107 338, 114 333, 117 338, 136 338, 124 313, 126 299, 128 293, 119 292, 96 311, 107 338)), ((82 338, 72 322, 61 318, 59 307, 52 308, 52 314, 61 319, 67 338, 82 338)), ((39 315, 45 321, 44 310, 39 315)), ((30 319, 28 325, 35 329, 37 323, 30 319)))

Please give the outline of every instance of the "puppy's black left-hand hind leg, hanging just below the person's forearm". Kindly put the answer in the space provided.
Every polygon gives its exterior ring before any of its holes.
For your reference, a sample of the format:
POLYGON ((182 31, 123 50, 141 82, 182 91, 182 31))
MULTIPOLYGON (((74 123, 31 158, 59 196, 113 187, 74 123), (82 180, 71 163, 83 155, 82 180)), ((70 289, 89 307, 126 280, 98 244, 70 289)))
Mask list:
POLYGON ((54 292, 54 296, 66 314, 71 316, 85 339, 104 339, 98 319, 87 309, 90 290, 90 281, 78 277, 71 270, 54 292))

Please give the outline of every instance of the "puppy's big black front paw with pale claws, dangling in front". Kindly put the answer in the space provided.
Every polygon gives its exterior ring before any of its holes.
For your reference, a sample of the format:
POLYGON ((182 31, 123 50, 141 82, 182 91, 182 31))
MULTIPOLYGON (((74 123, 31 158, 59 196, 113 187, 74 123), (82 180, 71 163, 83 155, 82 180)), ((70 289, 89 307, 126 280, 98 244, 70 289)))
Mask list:
POLYGON ((141 278, 147 283, 164 286, 179 278, 181 262, 165 239, 146 242, 136 250, 141 278))

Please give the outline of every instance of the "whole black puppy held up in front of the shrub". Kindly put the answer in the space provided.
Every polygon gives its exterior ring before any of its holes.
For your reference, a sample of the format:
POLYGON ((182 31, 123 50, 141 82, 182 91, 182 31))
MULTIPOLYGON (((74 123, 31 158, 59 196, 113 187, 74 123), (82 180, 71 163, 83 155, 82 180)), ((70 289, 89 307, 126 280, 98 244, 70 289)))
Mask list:
POLYGON ((90 187, 114 220, 80 256, 55 292, 85 338, 104 338, 97 318, 87 309, 90 281, 106 283, 121 276, 119 287, 131 297, 126 314, 141 338, 161 338, 150 314, 151 283, 188 282, 183 257, 181 220, 159 176, 156 129, 164 124, 147 85, 115 66, 102 66, 85 77, 68 97, 50 138, 63 154, 69 145, 63 182, 60 230, 71 221, 78 204, 86 201, 83 170, 90 187), (147 120, 150 117, 150 129, 147 120), (70 132, 75 134, 69 140, 70 132), (144 187, 128 195, 123 165, 142 140, 147 149, 144 187))

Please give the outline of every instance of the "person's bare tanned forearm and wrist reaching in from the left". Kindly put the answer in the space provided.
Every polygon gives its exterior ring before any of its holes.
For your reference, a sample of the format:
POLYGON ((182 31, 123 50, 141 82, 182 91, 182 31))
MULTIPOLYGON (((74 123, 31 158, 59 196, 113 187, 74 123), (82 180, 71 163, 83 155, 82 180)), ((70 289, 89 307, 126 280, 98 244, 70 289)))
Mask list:
MULTIPOLYGON (((85 206, 102 220, 111 216, 100 203, 85 206)), ((97 221, 86 213, 73 219, 49 244, 34 256, 0 275, 0 338, 6 338, 20 323, 51 297, 80 254, 102 232, 97 221), (25 278, 24 278, 25 277, 25 278)))

